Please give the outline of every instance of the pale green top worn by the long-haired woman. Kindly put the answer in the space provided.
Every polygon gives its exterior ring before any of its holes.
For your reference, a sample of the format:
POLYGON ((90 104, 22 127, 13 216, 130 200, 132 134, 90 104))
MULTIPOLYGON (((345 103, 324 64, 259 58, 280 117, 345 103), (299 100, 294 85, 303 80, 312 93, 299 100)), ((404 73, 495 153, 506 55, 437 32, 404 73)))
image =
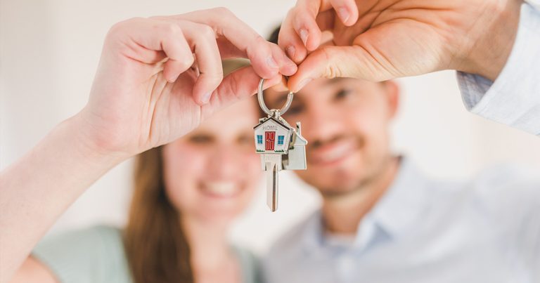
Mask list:
MULTIPOLYGON (((257 258, 245 249, 233 249, 242 268, 242 283, 261 282, 257 258)), ((118 228, 99 225, 46 237, 32 256, 61 283, 132 282, 118 228)))

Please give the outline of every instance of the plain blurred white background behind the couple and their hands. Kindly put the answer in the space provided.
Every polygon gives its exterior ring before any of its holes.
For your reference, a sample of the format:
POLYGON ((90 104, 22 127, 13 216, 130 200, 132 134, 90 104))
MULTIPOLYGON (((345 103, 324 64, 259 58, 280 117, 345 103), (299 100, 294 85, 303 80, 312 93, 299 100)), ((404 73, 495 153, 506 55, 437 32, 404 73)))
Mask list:
MULTIPOLYGON (((0 0, 0 168, 84 106, 103 38, 115 22, 226 6, 266 37, 294 3, 0 0)), ((454 72, 399 82, 403 95, 392 129, 394 148, 432 176, 468 178, 500 162, 540 165, 539 138, 465 111, 454 72)), ((259 252, 319 204, 316 193, 288 172, 281 174, 276 213, 266 208, 262 183, 260 189, 231 235, 259 252)), ((131 162, 125 162, 93 185, 51 231, 94 223, 122 225, 130 190, 131 162)))

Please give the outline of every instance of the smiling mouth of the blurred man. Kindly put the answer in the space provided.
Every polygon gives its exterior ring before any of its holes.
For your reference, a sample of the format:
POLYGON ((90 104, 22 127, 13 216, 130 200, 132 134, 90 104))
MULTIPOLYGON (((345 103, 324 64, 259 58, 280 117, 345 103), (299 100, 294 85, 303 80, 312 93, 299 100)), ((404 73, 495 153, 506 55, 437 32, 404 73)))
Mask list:
POLYGON ((314 166, 331 166, 336 165, 356 150, 356 142, 354 139, 340 140, 328 145, 322 145, 308 153, 309 164, 314 166))

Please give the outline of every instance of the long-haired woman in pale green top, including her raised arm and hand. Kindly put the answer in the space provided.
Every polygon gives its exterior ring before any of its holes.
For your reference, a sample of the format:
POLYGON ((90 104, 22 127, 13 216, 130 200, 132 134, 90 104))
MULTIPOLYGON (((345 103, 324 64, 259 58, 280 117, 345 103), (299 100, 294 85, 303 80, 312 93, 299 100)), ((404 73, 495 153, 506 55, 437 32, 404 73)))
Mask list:
POLYGON ((114 25, 86 106, 0 172, 0 282, 250 282, 250 261, 225 231, 258 175, 255 102, 211 117, 255 93, 260 77, 268 87, 296 68, 224 8, 114 25), (223 77, 231 57, 251 66, 223 77), (34 249, 91 183, 154 147, 139 162, 123 233, 94 228, 34 249))

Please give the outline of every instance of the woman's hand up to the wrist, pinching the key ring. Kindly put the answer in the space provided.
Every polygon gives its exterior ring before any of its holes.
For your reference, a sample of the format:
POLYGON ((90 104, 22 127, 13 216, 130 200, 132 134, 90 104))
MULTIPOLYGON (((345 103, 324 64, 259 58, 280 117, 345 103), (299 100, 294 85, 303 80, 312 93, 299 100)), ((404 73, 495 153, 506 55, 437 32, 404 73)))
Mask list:
POLYGON ((297 67, 225 8, 134 18, 108 33, 88 105, 77 116, 95 150, 126 156, 169 143, 221 107, 297 67), (222 58, 250 59, 223 77, 222 58))

